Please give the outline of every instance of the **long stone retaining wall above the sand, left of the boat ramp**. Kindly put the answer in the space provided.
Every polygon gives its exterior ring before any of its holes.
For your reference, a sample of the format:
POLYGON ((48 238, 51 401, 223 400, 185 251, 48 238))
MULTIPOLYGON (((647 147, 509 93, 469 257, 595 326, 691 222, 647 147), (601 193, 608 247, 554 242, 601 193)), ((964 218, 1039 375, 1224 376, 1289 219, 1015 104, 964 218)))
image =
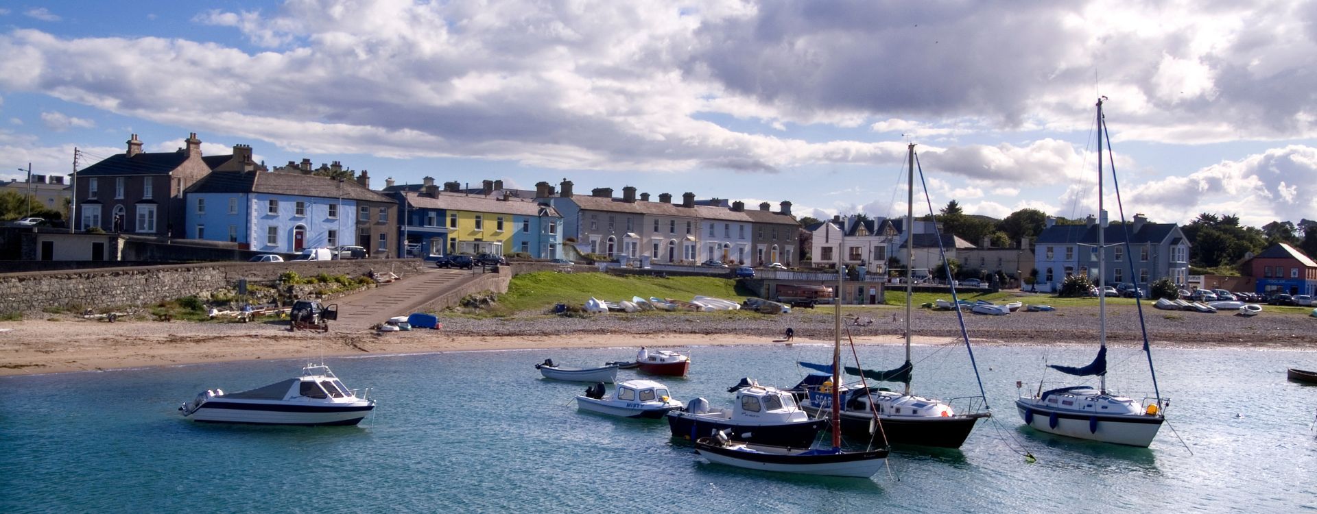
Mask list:
MULTIPOLYGON (((0 275, 0 313, 28 313, 54 309, 141 308, 187 296, 207 296, 237 287, 240 279, 252 284, 274 284, 279 275, 294 271, 302 276, 360 276, 412 273, 425 266, 419 259, 327 260, 292 263, 204 263, 138 266, 120 268, 43 271, 0 275)), ((504 284, 503 291, 507 291, 504 284)))

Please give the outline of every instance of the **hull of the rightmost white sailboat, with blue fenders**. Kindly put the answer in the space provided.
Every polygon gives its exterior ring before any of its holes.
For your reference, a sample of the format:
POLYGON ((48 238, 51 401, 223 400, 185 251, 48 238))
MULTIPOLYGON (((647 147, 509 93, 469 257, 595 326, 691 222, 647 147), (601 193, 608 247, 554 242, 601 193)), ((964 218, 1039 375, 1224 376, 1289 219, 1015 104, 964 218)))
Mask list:
POLYGON ((1048 409, 1025 400, 1015 401, 1015 410, 1026 425, 1038 431, 1142 448, 1152 444, 1166 421, 1160 415, 1096 415, 1048 409))

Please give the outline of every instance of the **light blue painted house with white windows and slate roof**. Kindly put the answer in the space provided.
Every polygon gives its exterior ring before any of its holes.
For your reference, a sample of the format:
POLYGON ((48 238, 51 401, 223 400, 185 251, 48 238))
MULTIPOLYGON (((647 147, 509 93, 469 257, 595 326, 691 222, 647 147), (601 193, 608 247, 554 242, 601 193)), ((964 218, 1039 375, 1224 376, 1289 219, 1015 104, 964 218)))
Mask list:
POLYGON ((387 239, 379 245, 383 248, 371 245, 371 233, 381 231, 374 225, 383 225, 382 233, 392 231, 392 202, 352 180, 215 171, 187 189, 186 202, 188 238, 286 254, 363 241, 367 252, 390 254, 387 239), (377 209, 382 210, 378 217, 377 209))

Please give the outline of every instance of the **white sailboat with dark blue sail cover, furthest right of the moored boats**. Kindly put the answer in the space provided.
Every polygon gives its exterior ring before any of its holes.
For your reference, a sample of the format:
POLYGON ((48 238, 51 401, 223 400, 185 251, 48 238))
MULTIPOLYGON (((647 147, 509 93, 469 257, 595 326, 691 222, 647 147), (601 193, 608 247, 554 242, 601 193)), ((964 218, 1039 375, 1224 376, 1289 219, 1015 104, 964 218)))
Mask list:
MULTIPOLYGON (((1102 135, 1106 133, 1106 122, 1102 118, 1102 101, 1097 101, 1097 212, 1098 220, 1097 247, 1098 247, 1098 289, 1104 287, 1106 273, 1105 227, 1106 214, 1102 210, 1102 135)), ((1108 138, 1110 145, 1110 138, 1108 138)), ((1114 159, 1113 159, 1114 172, 1114 159)), ((1119 193, 1119 191, 1117 191, 1119 193)), ((1126 234, 1125 241, 1129 241, 1126 234)), ((1129 248, 1126 248, 1129 254, 1129 248)), ((1138 298, 1139 322, 1142 325, 1143 308, 1138 298)), ((1105 443, 1129 444, 1147 447, 1152 443, 1162 423, 1166 422, 1166 406, 1169 402, 1156 397, 1144 398, 1142 402, 1123 396, 1118 396, 1106 389, 1106 296, 1098 296, 1098 318, 1101 329, 1098 333, 1100 350, 1097 358, 1084 367, 1048 365, 1072 376, 1097 376, 1100 386, 1073 385, 1051 390, 1042 390, 1031 397, 1021 396, 1015 400, 1015 408, 1025 423, 1035 430, 1048 434, 1067 435, 1079 439, 1100 440, 1105 443)), ((1156 389, 1156 372, 1152 368, 1152 354, 1148 351, 1147 330, 1143 331, 1143 352, 1148 358, 1148 371, 1152 373, 1152 386, 1156 389)))

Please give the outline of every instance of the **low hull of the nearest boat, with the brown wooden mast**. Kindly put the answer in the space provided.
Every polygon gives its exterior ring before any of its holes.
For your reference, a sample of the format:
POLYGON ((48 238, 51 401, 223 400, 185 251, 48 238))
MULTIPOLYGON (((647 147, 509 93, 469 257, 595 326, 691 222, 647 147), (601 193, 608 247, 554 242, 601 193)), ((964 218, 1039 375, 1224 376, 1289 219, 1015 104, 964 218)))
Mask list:
POLYGON ((868 479, 882 469, 888 450, 813 454, 768 444, 712 444, 695 440, 695 451, 710 463, 784 473, 868 479))

